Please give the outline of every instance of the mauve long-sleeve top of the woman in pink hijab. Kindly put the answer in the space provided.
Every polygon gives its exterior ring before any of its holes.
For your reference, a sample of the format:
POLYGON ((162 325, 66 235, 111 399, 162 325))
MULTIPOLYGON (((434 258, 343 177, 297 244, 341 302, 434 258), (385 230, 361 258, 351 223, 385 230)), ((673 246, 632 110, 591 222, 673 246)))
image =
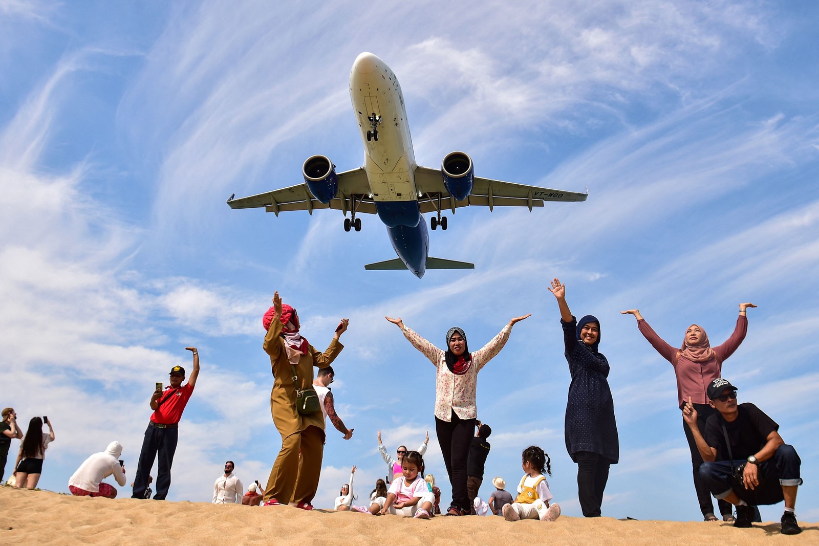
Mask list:
POLYGON ((687 402, 689 396, 693 404, 708 404, 708 395, 705 394, 705 391, 711 381, 717 379, 717 377, 722 377, 722 363, 731 354, 734 354, 734 351, 745 339, 745 334, 748 332, 748 318, 740 314, 739 318, 736 319, 734 333, 725 343, 713 347, 716 354, 704 362, 692 362, 686 359, 685 356, 678 354, 680 350, 663 341, 657 335, 657 332, 654 332, 652 327, 649 326, 649 323, 645 322, 645 318, 637 321, 637 327, 640 328, 640 333, 645 336, 645 339, 649 341, 663 359, 666 359, 674 367, 676 395, 679 399, 678 405, 682 408, 682 403, 687 402))

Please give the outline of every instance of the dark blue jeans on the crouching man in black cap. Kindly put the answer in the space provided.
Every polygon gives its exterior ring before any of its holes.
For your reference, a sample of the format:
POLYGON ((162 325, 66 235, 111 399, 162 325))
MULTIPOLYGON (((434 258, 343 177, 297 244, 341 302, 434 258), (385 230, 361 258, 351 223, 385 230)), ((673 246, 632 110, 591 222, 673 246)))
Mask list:
POLYGON ((779 503, 782 500, 782 485, 802 485, 802 478, 799 477, 802 460, 792 445, 779 446, 773 458, 758 464, 759 485, 756 489, 746 490, 731 475, 731 468, 742 463, 745 461, 703 463, 699 467, 699 477, 716 499, 725 499, 733 491, 751 506, 779 503))

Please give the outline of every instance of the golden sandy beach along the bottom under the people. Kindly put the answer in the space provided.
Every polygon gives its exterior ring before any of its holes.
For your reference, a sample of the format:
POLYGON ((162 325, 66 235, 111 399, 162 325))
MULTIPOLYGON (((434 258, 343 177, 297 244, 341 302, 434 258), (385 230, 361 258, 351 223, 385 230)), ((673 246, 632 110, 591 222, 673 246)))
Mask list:
POLYGON ((560 517, 553 523, 500 517, 396 516, 292 507, 90 499, 0 487, 0 544, 819 544, 819 524, 780 535, 779 522, 734 529, 704 521, 560 517))

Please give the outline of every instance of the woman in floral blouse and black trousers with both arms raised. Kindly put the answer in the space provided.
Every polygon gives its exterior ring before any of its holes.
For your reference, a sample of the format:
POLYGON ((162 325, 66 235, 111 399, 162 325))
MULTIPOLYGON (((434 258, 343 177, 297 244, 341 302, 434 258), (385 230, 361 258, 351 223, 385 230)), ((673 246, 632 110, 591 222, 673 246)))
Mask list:
POLYGON ((405 327, 400 318, 385 317, 396 324, 409 343, 421 351, 437 368, 435 429, 452 485, 452 504, 446 511, 446 516, 464 516, 469 513, 466 463, 477 418, 475 408, 477 372, 504 348, 514 323, 531 316, 527 314, 512 318, 497 336, 474 353, 469 352, 466 334, 459 327, 452 327, 446 332, 447 349, 441 350, 405 327))

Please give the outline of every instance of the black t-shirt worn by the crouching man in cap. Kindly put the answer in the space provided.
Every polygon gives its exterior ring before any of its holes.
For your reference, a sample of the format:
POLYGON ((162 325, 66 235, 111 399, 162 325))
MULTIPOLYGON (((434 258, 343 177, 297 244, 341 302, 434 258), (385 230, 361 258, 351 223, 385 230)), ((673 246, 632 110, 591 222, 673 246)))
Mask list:
POLYGON ((739 415, 733 422, 722 418, 722 413, 714 413, 705 422, 703 437, 705 442, 717 448, 717 461, 728 460, 728 449, 725 444, 725 435, 722 425, 728 432, 731 440, 731 455, 735 461, 741 461, 756 454, 762 446, 767 444, 767 437, 771 432, 778 431, 779 425, 768 417, 761 409, 750 402, 737 406, 739 415))

